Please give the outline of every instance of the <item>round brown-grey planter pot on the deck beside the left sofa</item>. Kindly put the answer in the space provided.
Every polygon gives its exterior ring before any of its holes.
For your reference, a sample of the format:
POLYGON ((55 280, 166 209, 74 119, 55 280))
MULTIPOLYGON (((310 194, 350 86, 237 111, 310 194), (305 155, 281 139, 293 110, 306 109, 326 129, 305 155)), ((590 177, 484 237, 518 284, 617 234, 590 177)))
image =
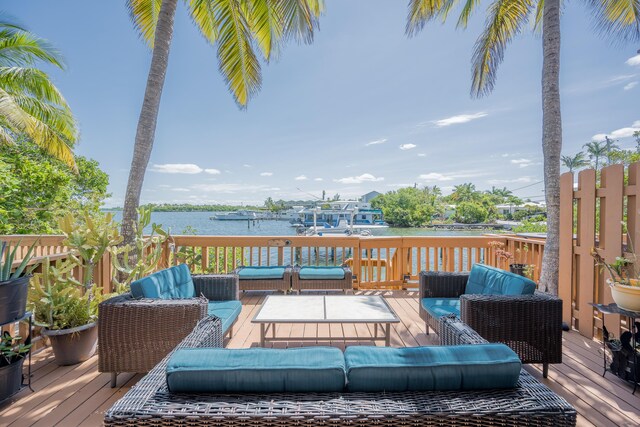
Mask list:
POLYGON ((60 366, 75 365, 93 356, 98 345, 96 323, 71 329, 43 329, 42 335, 49 337, 56 363, 60 366))

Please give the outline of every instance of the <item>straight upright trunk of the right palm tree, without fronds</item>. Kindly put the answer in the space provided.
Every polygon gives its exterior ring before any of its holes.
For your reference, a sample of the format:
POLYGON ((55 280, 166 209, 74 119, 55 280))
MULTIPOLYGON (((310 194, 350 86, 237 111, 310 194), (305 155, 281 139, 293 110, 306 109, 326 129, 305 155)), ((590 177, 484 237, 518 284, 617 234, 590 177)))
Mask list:
POLYGON ((547 241, 542 258, 540 284, 558 293, 560 264, 560 152, 562 120, 560 112, 560 0, 545 0, 542 21, 542 153, 547 203, 547 241))

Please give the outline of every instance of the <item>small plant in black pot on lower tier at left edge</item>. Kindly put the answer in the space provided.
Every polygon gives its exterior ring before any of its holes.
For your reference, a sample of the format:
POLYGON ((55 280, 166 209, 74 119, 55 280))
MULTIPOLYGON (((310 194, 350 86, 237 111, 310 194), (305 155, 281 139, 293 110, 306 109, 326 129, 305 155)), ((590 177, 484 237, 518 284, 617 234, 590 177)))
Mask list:
POLYGON ((12 337, 8 331, 0 336, 0 401, 18 392, 22 386, 22 364, 31 344, 21 341, 21 337, 12 337))

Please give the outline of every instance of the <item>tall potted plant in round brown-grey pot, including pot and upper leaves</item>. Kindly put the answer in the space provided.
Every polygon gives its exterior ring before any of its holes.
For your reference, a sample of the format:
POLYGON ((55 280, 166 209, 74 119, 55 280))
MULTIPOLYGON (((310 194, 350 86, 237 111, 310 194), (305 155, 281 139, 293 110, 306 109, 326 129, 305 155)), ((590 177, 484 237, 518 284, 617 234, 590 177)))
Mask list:
POLYGON ((122 241, 111 214, 83 212, 60 220, 68 259, 35 274, 29 296, 36 324, 43 326, 59 365, 83 362, 93 355, 98 342, 98 304, 102 287, 94 283, 97 264, 112 246, 122 241), (74 271, 79 274, 76 278, 74 271))

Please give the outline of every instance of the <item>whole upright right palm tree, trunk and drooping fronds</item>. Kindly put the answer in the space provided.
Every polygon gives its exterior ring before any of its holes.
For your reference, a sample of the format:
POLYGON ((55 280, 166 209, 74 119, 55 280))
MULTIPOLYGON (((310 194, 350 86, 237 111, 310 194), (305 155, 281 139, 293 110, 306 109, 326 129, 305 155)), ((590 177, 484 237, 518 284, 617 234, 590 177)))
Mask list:
MULTIPOLYGON (((409 0, 407 34, 418 33, 427 22, 446 19, 457 0, 409 0)), ((594 0, 588 2, 596 15, 596 26, 626 40, 640 39, 638 0, 594 0)), ((466 27, 479 0, 465 0, 458 26, 466 27)), ((542 26, 542 152, 544 158, 547 240, 542 259, 540 282, 557 293, 560 264, 560 153, 562 119, 560 111, 560 0, 492 0, 487 25, 478 38, 473 54, 472 94, 486 95, 493 90, 504 51, 533 18, 542 26)))

